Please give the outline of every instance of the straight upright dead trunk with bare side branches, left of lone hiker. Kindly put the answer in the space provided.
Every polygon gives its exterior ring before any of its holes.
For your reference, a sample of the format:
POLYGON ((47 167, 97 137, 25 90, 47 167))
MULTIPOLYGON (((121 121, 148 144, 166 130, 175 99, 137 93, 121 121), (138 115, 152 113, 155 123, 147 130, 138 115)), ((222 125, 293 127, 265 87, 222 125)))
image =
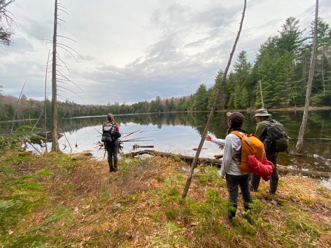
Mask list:
POLYGON ((58 0, 55 0, 54 34, 53 34, 53 59, 52 59, 52 152, 59 152, 58 142, 58 108, 56 86, 56 38, 58 26, 58 0))

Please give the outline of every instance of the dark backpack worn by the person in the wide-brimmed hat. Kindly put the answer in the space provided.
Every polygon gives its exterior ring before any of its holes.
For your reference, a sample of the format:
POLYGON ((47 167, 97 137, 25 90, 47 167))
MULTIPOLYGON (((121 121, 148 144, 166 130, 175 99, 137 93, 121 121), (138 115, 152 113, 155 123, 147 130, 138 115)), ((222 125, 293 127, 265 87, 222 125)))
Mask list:
POLYGON ((287 151, 289 145, 289 137, 285 127, 275 120, 268 120, 270 123, 260 122, 265 125, 267 135, 264 140, 264 148, 269 153, 282 153, 287 151))

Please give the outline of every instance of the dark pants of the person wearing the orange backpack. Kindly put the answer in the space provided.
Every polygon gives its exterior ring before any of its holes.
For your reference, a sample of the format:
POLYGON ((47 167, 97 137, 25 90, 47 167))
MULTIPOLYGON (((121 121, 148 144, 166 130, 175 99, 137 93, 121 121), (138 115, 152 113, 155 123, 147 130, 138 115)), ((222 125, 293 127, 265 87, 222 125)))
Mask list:
POLYGON ((237 204, 238 202, 238 186, 241 190, 242 198, 244 202, 253 202, 253 198, 250 191, 250 174, 235 176, 235 175, 225 175, 226 188, 229 193, 229 202, 237 204))

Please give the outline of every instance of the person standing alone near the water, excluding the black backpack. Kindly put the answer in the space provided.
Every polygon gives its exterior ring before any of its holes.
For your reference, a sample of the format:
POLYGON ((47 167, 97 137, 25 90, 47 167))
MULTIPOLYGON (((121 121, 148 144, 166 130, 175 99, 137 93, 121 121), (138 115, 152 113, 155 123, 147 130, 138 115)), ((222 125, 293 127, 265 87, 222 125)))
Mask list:
MULTIPOLYGON (((112 114, 107 114, 108 123, 102 125, 102 131, 105 132, 105 126, 115 127, 115 131, 119 132, 118 124, 114 124, 114 116, 112 114)), ((111 142, 105 141, 105 149, 108 153, 108 164, 109 164, 109 172, 118 171, 117 168, 117 160, 118 160, 118 140, 113 140, 111 142)))

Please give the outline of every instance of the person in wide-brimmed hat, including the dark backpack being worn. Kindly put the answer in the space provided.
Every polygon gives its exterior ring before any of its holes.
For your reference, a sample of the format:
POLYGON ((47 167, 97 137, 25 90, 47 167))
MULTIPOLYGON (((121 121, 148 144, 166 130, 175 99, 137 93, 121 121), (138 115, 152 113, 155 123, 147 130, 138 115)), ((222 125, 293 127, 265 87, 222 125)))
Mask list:
MULTIPOLYGON (((288 137, 284 126, 275 120, 272 120, 269 116, 271 116, 271 114, 268 114, 266 109, 259 109, 255 111, 255 116, 253 118, 256 118, 259 122, 256 126, 255 135, 264 143, 266 157, 275 166, 270 175, 269 188, 266 189, 268 194, 274 195, 279 180, 277 172, 277 157, 279 152, 286 151, 288 147, 288 137), (278 145, 278 140, 282 144, 281 146, 278 145), (275 147, 275 145, 277 145, 277 147, 275 147)), ((251 191, 257 191, 259 185, 260 177, 251 174, 251 191)))

